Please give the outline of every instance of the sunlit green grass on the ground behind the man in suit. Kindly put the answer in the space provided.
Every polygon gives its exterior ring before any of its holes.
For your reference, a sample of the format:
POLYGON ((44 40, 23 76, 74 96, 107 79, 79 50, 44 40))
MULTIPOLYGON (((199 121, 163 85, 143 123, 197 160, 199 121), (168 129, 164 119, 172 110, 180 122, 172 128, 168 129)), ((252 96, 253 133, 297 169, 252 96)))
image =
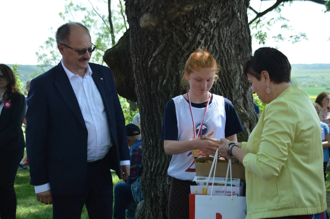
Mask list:
MULTIPOLYGON (((26 152, 24 152, 25 154, 26 152)), ((52 205, 41 204, 36 200, 34 187, 30 185, 28 170, 18 169, 15 180, 15 191, 17 196, 17 219, 51 219, 52 205)), ((114 186, 119 180, 117 175, 112 173, 114 186)), ((82 219, 88 219, 86 207, 82 209, 82 219)))

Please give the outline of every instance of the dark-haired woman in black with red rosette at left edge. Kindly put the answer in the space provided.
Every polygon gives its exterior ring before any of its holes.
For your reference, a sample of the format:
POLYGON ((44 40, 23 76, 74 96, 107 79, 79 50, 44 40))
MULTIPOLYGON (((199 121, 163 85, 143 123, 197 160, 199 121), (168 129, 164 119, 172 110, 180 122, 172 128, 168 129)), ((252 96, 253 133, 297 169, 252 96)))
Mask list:
POLYGON ((18 164, 24 154, 22 123, 25 97, 16 87, 15 74, 0 64, 0 218, 16 218, 14 181, 18 164))

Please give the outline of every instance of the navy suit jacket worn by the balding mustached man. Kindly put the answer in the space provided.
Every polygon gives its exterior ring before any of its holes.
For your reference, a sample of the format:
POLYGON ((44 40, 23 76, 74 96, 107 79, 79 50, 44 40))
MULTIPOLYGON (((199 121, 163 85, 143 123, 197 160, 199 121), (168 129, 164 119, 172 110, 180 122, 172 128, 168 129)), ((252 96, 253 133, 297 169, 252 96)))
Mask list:
MULTIPOLYGON (((118 177, 119 161, 130 160, 125 118, 108 67, 89 63, 101 94, 113 146, 105 159, 118 177), (101 80, 102 78, 102 80, 101 80)), ((87 128, 78 100, 59 63, 31 81, 27 98, 26 150, 31 185, 50 183, 52 194, 81 192, 87 170, 87 128)))

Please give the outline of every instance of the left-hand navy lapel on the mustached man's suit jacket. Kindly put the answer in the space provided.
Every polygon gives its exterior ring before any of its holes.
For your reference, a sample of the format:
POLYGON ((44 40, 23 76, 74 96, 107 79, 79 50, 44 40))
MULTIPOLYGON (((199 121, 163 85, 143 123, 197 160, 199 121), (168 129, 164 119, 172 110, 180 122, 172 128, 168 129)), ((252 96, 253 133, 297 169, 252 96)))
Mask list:
POLYGON ((82 123, 84 127, 86 127, 77 97, 75 95, 75 92, 73 91, 69 78, 66 75, 61 63, 59 63, 56 67, 54 84, 57 87, 60 95, 63 97, 66 104, 69 106, 72 113, 76 116, 78 121, 82 123))

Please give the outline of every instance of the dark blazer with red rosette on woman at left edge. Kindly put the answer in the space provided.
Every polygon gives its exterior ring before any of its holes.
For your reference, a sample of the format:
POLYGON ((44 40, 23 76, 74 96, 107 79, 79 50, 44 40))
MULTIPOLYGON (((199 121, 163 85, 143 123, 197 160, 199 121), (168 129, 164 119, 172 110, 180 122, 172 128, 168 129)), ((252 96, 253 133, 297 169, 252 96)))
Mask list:
POLYGON ((0 114, 0 153, 25 147, 22 130, 25 97, 21 93, 14 93, 8 101, 11 103, 11 107, 3 107, 0 114))

